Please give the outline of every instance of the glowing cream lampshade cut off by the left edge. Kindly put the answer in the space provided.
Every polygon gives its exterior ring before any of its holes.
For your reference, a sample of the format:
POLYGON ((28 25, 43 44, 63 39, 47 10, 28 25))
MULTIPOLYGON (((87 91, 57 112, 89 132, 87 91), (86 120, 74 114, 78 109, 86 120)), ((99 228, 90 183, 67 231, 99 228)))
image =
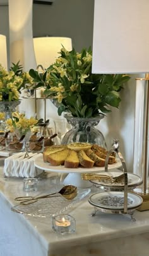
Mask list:
POLYGON ((3 35, 0 35, 0 64, 8 69, 6 36, 3 35))

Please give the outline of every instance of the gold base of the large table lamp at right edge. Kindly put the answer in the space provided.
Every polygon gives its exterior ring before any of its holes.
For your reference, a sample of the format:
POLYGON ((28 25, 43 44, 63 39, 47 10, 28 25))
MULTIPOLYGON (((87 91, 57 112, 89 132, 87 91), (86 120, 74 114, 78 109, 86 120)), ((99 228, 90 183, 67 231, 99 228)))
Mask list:
POLYGON ((146 210, 149 210, 149 189, 146 189, 146 192, 144 193, 141 189, 134 189, 134 194, 138 194, 143 198, 143 203, 139 208, 137 208, 138 211, 143 212, 146 210))

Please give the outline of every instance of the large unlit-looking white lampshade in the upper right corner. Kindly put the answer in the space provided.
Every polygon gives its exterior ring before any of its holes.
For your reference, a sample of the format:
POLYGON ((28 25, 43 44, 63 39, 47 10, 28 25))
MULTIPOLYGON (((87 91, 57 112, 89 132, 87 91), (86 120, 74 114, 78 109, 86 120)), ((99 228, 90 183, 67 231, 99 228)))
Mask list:
POLYGON ((148 10, 148 0, 95 0, 93 73, 149 71, 148 10))

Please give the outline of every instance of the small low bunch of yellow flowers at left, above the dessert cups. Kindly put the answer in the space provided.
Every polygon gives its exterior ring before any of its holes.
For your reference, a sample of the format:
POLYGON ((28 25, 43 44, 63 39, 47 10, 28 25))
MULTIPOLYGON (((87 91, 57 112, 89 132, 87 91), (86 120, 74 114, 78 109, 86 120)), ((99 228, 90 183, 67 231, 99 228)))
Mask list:
POLYGON ((6 130, 10 132, 19 131, 20 136, 26 135, 28 131, 35 132, 38 120, 31 117, 27 119, 25 114, 13 112, 12 118, 6 120, 6 130))

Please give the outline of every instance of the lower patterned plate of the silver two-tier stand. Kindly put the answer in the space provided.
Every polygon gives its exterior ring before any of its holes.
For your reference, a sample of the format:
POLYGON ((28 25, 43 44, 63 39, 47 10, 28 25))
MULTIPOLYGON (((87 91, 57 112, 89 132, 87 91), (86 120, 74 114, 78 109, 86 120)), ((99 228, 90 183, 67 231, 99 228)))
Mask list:
MULTIPOLYGON (((124 209, 124 192, 110 191, 95 193, 90 196, 88 202, 97 208, 122 210, 124 209)), ((141 196, 131 192, 128 193, 128 210, 138 208, 142 202, 143 199, 141 196)))

